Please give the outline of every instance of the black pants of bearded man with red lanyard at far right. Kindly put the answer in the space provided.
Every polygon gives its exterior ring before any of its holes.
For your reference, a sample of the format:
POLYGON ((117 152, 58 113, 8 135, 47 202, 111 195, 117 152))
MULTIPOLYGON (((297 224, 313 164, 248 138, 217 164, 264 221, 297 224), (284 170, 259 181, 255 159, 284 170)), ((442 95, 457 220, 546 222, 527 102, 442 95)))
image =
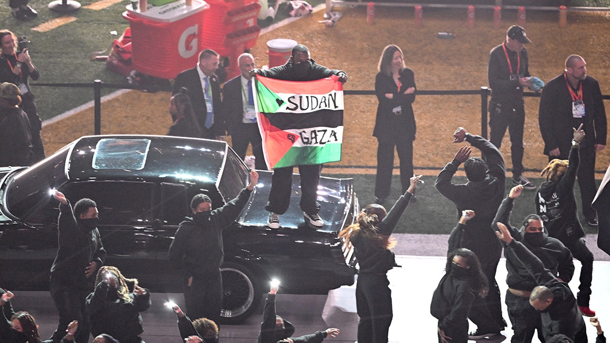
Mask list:
MULTIPOLYGON (((580 144, 580 164, 578 165, 578 187, 583 206, 583 215, 587 220, 595 218, 597 212, 591 207, 597 186, 595 186, 595 147, 593 142, 581 142, 580 144)), ((560 151, 559 156, 548 156, 548 161, 553 159, 568 159, 569 151, 560 151)))

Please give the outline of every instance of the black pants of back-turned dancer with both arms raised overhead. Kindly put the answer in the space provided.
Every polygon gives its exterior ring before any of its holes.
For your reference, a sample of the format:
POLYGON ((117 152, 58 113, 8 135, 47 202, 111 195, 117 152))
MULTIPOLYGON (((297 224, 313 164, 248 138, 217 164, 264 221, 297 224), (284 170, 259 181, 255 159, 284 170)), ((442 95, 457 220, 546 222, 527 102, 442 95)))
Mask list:
POLYGON ((481 269, 483 269, 483 273, 489 281, 489 293, 485 298, 475 297, 468 318, 475 323, 479 330, 495 333, 498 329, 506 327, 506 321, 502 317, 500 287, 498 287, 498 283, 495 281, 501 250, 490 251, 488 253, 484 252, 484 250, 473 248, 470 248, 470 250, 476 254, 481 262, 481 269))

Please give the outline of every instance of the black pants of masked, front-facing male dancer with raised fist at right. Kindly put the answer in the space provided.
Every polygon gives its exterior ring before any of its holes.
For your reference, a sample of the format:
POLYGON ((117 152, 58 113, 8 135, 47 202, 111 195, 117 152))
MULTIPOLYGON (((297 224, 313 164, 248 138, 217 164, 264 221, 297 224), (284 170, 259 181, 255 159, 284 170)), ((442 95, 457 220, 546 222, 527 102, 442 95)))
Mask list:
POLYGON ((506 291, 506 307, 513 331, 511 343, 531 343, 536 330, 538 339, 544 343, 540 312, 529 305, 529 298, 517 297, 506 291))

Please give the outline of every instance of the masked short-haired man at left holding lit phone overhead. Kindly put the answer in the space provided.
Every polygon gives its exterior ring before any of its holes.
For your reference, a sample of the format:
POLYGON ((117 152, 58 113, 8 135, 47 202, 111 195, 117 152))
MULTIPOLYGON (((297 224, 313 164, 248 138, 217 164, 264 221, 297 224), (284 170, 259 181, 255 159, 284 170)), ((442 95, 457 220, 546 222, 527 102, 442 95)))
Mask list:
POLYGON ((52 190, 59 200, 57 220, 57 256, 51 267, 49 291, 59 312, 59 325, 50 339, 44 343, 59 343, 65 336, 65 328, 78 320, 76 342, 88 342, 89 316, 85 299, 93 291, 91 276, 104 264, 106 250, 98 231, 98 208, 95 201, 82 198, 74 204, 74 210, 59 190, 52 190))

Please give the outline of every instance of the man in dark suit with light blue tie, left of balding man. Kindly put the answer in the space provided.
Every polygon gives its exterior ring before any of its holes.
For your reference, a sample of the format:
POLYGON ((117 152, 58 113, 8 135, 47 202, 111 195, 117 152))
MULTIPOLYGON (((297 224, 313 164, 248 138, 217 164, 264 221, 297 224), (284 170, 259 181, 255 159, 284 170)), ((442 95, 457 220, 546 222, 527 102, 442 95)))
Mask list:
POLYGON ((215 75, 219 61, 216 51, 205 49, 199 53, 197 66, 182 71, 174 81, 173 95, 179 93, 181 87, 188 88, 195 117, 201 126, 201 138, 216 139, 224 135, 222 123, 214 120, 214 114, 220 113, 220 85, 215 75))

